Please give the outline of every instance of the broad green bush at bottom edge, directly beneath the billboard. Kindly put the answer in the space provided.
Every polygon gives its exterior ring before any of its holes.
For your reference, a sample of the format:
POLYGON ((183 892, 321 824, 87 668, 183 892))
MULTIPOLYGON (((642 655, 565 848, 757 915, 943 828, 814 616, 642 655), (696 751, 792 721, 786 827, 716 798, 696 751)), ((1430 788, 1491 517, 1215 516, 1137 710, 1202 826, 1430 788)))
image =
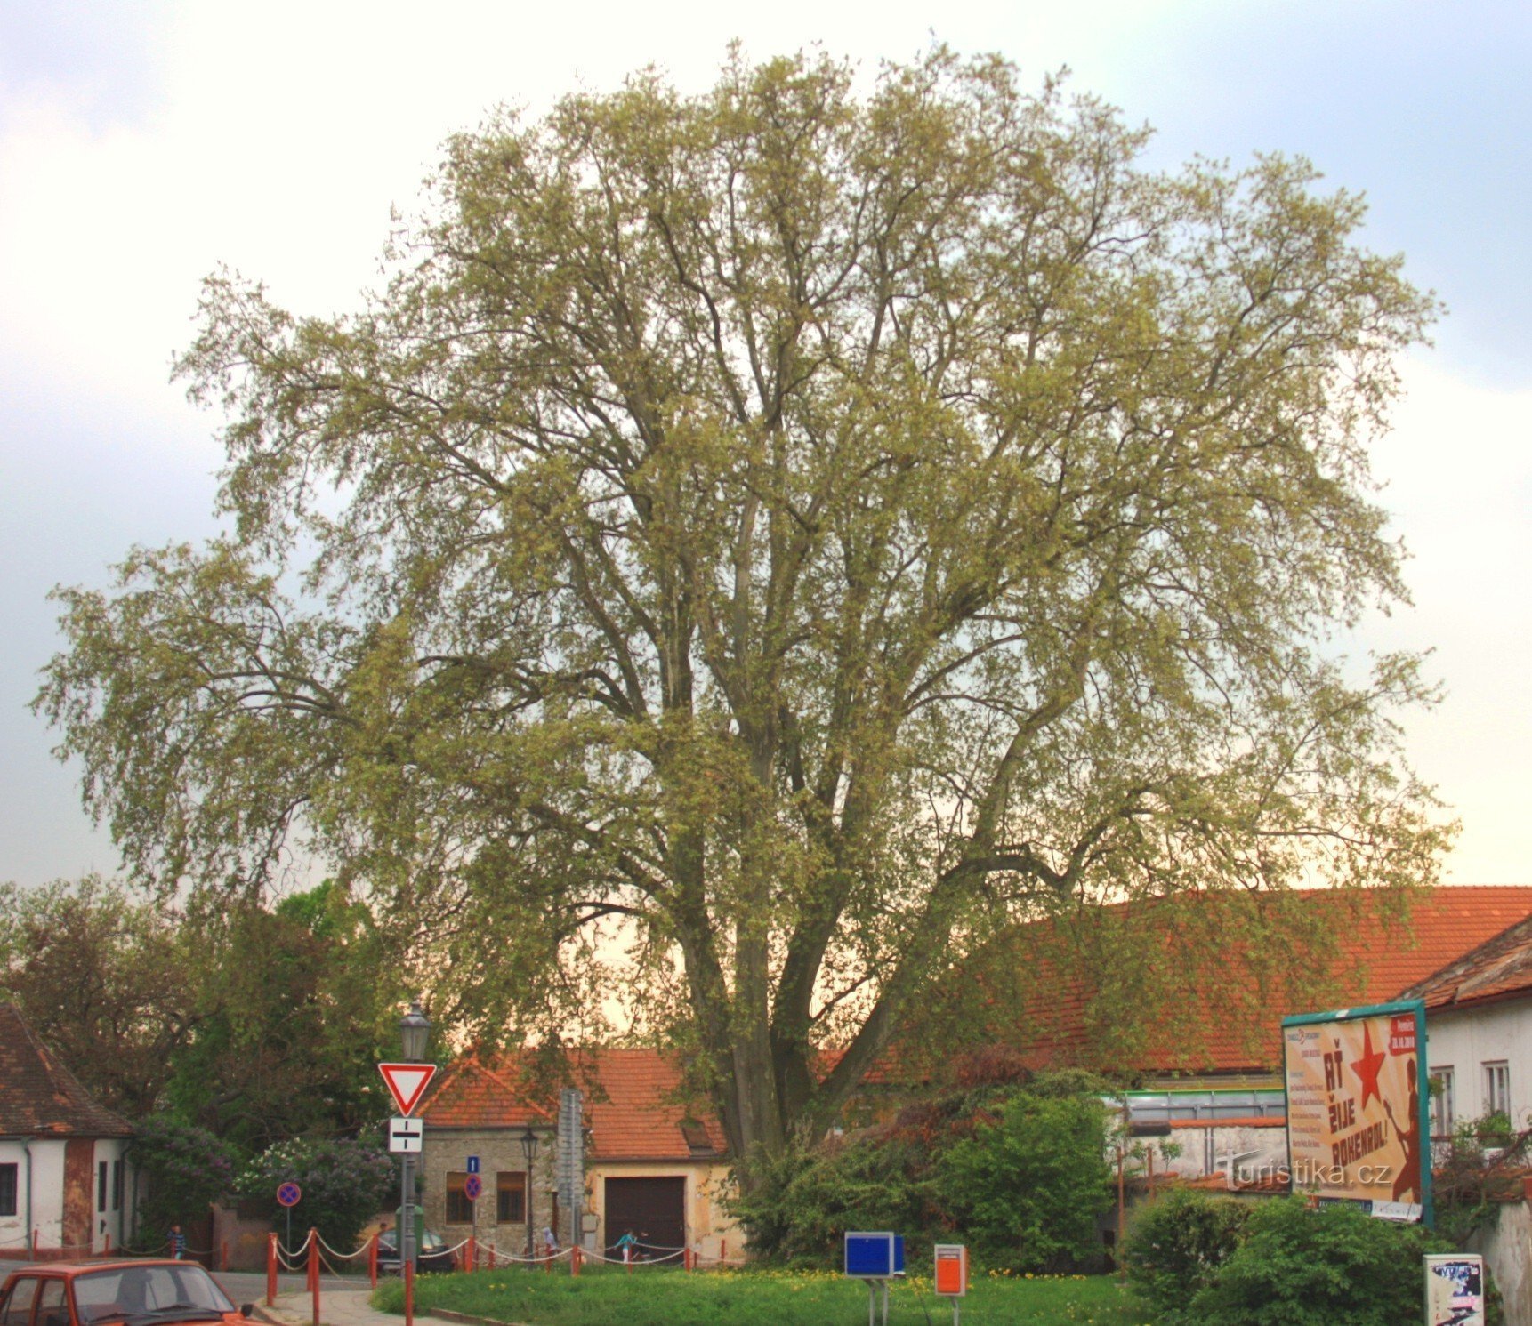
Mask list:
POLYGON ((1451 1251, 1419 1225, 1302 1199, 1252 1211, 1244 1242, 1190 1300, 1200 1326, 1400 1326, 1425 1315, 1425 1253, 1451 1251))

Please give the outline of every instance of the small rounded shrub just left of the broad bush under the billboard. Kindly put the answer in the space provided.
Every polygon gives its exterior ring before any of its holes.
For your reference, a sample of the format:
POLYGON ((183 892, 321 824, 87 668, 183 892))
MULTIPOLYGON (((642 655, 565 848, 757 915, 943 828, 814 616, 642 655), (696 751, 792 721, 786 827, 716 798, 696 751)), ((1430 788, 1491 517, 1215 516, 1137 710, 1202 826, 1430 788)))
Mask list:
POLYGON ((1253 1207, 1238 1197, 1172 1191, 1135 1217, 1123 1243, 1134 1291, 1167 1320, 1213 1283, 1244 1239, 1253 1207))

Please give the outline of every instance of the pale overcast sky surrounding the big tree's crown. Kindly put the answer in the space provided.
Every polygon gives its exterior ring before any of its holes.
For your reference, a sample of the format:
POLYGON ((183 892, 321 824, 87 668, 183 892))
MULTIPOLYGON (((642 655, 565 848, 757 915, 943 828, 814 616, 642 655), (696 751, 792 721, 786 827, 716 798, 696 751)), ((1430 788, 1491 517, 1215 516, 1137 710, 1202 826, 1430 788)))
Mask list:
POLYGON ((116 865, 25 706, 58 645, 52 585, 214 528, 216 420, 167 381, 204 274, 342 311, 389 208, 499 101, 539 110, 647 63, 702 89, 735 37, 873 67, 931 32, 1034 86, 1069 66, 1155 126, 1157 162, 1308 156, 1446 302, 1376 453, 1414 608, 1362 643, 1435 648, 1448 700, 1408 736, 1463 821, 1448 877, 1532 880, 1532 6, 1440 0, 0 3, 0 879, 116 865))

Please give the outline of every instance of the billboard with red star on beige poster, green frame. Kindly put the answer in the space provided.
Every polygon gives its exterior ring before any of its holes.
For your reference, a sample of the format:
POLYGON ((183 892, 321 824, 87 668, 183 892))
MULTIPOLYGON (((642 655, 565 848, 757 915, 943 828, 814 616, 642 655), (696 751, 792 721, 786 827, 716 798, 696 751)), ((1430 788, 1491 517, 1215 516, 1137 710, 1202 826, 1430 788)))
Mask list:
POLYGON ((1282 1066, 1293 1191, 1429 1223, 1425 1004, 1282 1018, 1282 1066))

